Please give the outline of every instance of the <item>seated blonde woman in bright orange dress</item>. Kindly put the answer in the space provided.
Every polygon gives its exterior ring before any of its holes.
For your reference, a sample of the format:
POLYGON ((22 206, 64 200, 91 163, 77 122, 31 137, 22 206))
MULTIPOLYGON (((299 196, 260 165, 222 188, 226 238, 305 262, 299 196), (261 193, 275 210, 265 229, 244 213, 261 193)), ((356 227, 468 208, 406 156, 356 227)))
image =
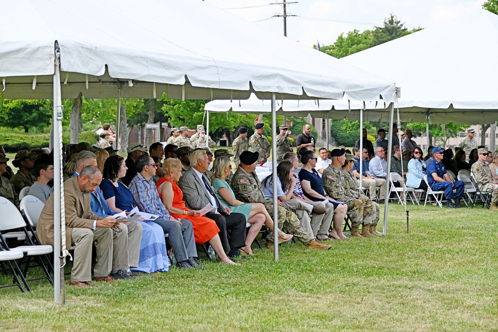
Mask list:
POLYGON ((182 177, 182 163, 175 158, 168 158, 163 163, 164 176, 156 182, 157 191, 162 203, 173 218, 186 219, 192 222, 195 243, 209 242, 214 251, 224 264, 242 265, 232 261, 221 244, 220 228, 216 222, 207 217, 202 217, 199 211, 189 210, 183 201, 183 192, 177 182, 182 177))

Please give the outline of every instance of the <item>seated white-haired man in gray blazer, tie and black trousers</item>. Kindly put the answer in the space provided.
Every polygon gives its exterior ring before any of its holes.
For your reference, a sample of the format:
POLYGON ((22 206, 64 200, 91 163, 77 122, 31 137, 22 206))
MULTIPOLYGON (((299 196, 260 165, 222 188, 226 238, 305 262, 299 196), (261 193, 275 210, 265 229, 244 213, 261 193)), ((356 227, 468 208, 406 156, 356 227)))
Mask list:
POLYGON ((231 213, 216 196, 211 182, 203 174, 208 170, 209 157, 205 150, 195 150, 190 156, 190 168, 178 181, 183 192, 183 200, 190 210, 202 210, 208 204, 214 209, 206 217, 216 222, 225 252, 230 258, 242 257, 239 248, 246 246, 246 217, 240 213, 231 213), (228 239, 230 230, 230 240, 228 239))

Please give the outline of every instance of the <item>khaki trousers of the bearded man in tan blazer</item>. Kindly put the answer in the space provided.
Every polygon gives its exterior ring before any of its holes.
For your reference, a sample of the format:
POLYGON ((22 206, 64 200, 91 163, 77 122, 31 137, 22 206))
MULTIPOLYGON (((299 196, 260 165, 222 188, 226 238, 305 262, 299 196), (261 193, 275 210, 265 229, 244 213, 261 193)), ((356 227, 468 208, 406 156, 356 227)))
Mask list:
POLYGON ((113 230, 97 227, 73 228, 71 244, 74 245, 74 262, 71 270, 71 281, 85 282, 92 280, 92 245, 96 241, 97 262, 94 276, 107 277, 111 272, 113 261, 113 230))

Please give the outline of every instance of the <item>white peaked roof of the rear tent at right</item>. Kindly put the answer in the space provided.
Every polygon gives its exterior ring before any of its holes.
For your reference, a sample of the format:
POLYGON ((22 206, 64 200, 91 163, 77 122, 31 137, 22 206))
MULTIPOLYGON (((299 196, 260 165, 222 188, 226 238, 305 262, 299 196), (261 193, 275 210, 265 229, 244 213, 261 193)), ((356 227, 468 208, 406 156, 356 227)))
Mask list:
POLYGON ((401 87, 403 112, 433 123, 498 118, 498 15, 484 9, 342 58, 401 87))

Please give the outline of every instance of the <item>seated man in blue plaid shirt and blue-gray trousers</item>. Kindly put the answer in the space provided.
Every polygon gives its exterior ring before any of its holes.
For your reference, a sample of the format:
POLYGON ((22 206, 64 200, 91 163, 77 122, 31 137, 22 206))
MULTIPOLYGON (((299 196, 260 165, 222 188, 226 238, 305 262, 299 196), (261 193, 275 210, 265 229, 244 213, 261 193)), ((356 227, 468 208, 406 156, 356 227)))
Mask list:
POLYGON ((138 210, 159 215, 152 220, 162 227, 164 233, 168 234, 169 242, 173 247, 176 265, 183 269, 194 269, 201 265, 197 261, 197 249, 195 248, 194 230, 192 222, 184 219, 171 218, 168 210, 159 198, 152 177, 155 175, 155 163, 151 157, 143 155, 135 161, 138 173, 129 184, 129 191, 133 196, 133 206, 138 210))

